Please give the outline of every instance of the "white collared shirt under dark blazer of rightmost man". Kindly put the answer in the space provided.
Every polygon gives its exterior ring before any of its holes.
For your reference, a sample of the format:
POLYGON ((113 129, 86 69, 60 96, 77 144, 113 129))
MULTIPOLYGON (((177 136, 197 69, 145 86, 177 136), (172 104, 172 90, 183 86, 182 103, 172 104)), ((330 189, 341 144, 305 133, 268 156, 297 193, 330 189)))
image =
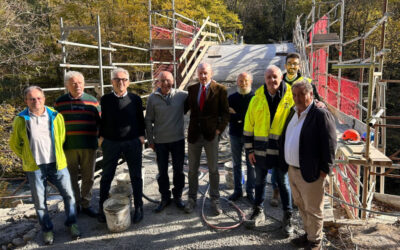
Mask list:
POLYGON ((290 166, 300 168, 300 160, 299 160, 300 133, 301 133, 301 128, 303 127, 304 124, 304 120, 306 119, 306 116, 312 104, 313 103, 308 105, 306 110, 301 112, 300 117, 298 115, 299 113, 297 108, 294 107, 296 113, 293 115, 286 129, 285 161, 290 166))

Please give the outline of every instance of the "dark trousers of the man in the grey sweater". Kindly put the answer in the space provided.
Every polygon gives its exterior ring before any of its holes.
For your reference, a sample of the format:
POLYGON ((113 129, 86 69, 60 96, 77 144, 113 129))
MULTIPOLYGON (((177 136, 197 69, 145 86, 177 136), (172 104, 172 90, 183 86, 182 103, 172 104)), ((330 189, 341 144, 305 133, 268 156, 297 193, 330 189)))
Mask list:
POLYGON ((170 142, 170 143, 156 143, 155 144, 158 166, 158 190, 160 191, 161 198, 168 200, 171 198, 171 191, 169 190, 169 177, 168 177, 168 158, 171 153, 172 169, 173 169, 173 184, 172 195, 174 198, 182 197, 182 190, 185 186, 185 175, 183 174, 183 161, 185 158, 185 140, 170 142))

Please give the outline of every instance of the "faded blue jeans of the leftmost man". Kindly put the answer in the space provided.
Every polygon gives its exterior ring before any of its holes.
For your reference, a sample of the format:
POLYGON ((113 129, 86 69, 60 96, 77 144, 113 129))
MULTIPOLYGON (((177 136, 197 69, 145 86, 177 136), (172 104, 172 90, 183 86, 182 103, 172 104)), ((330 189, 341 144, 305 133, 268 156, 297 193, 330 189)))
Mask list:
POLYGON ((57 170, 56 163, 41 164, 39 169, 32 172, 25 172, 29 180, 32 199, 35 204, 36 214, 39 218, 43 232, 53 230, 49 211, 46 204, 47 181, 57 187, 64 200, 65 215, 67 219, 65 226, 69 227, 76 223, 75 198, 72 191, 71 178, 68 168, 57 170))

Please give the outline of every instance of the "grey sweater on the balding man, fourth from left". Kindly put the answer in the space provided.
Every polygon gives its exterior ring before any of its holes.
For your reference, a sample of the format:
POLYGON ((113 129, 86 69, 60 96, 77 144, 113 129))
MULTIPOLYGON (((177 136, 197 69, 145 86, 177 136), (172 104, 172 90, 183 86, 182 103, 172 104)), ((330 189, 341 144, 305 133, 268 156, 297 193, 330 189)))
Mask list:
POLYGON ((187 92, 171 89, 163 96, 158 89, 147 100, 146 133, 149 144, 170 143, 185 138, 184 104, 187 92))

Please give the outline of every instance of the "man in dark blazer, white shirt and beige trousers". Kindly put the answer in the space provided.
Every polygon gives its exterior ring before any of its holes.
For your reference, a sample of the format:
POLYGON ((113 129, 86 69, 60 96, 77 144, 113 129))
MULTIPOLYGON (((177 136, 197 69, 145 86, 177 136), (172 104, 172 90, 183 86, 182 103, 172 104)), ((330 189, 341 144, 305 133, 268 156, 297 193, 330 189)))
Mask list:
POLYGON ((336 150, 336 125, 332 114, 316 107, 307 80, 292 86, 295 107, 280 140, 281 168, 289 168, 293 201, 303 220, 305 235, 293 239, 296 247, 320 249, 322 240, 324 181, 336 150))

